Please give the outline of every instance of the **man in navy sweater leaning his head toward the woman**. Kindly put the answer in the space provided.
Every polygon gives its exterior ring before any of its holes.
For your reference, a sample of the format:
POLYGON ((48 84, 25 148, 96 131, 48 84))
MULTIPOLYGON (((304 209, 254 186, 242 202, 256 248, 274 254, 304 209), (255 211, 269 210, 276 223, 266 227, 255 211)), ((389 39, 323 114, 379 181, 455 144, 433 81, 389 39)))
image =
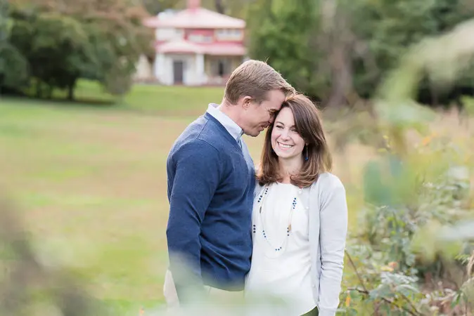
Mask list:
POLYGON ((231 74, 222 103, 210 104, 172 146, 164 289, 169 305, 186 301, 189 291, 243 290, 252 255, 255 167, 241 136, 258 136, 291 93, 294 88, 265 62, 243 62, 231 74))

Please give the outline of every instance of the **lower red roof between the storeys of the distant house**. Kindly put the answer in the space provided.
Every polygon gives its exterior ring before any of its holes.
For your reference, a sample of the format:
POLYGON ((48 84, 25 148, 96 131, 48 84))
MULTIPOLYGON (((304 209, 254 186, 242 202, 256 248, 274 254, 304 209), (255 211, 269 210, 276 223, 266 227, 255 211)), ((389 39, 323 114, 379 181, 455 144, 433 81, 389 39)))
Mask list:
POLYGON ((156 44, 157 53, 201 53, 205 55, 226 55, 243 56, 246 49, 242 44, 236 43, 215 43, 196 44, 191 41, 168 41, 163 44, 156 44))

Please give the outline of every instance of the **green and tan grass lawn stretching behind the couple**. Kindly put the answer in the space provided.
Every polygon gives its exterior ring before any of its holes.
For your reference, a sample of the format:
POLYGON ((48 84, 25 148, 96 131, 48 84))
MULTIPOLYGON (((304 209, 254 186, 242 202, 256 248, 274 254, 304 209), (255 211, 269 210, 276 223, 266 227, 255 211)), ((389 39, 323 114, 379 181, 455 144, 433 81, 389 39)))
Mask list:
MULTIPOLYGON (((94 296, 130 312, 159 305, 165 159, 207 103, 220 102, 222 88, 135 86, 122 105, 109 106, 110 97, 82 83, 77 97, 104 103, 0 99, 0 185, 41 249, 79 271, 94 296)), ((257 161, 262 136, 246 142, 257 161)), ((353 146, 346 159, 335 157, 353 208, 361 198, 352 181, 371 154, 353 146)))

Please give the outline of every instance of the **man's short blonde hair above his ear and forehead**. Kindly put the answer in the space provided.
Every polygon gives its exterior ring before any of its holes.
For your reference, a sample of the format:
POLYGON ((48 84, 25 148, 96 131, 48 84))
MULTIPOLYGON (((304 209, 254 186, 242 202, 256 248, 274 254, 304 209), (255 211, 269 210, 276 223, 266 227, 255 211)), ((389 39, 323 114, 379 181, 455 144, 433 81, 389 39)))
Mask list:
POLYGON ((282 91, 285 96, 295 94, 295 88, 266 62, 247 60, 232 72, 226 83, 224 99, 236 104, 239 98, 250 96, 257 103, 262 103, 272 90, 282 91))

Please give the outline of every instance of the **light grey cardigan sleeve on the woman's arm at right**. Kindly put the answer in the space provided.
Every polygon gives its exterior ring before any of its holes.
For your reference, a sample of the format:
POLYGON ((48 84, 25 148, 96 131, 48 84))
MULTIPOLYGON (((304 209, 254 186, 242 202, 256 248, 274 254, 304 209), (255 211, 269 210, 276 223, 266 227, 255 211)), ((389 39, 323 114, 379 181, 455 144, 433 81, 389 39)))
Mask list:
POLYGON ((327 185, 321 185, 323 191, 320 196, 319 316, 334 316, 338 308, 347 235, 347 202, 344 185, 333 175, 327 180, 327 185))

